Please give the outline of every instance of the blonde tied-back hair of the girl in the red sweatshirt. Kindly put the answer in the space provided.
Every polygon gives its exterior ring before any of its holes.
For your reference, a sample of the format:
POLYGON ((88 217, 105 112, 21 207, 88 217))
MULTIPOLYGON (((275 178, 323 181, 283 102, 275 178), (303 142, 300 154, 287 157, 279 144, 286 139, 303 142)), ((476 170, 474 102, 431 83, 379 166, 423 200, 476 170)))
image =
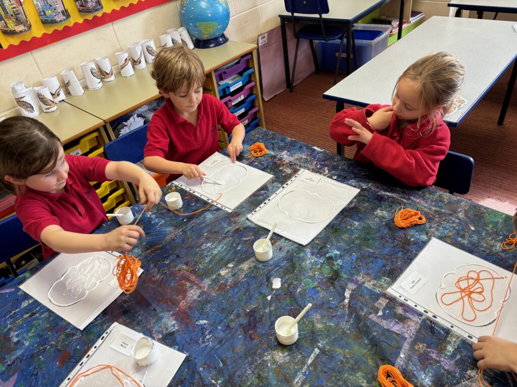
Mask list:
MULTIPOLYGON (((436 129, 435 112, 439 107, 443 105, 439 111, 442 118, 449 112, 454 98, 460 92, 464 75, 465 68, 454 55, 439 51, 418 59, 399 77, 397 85, 402 78, 413 80, 418 85, 420 109, 427 112, 430 119, 424 135, 430 135, 436 129)), ((420 126, 420 118, 417 127, 420 126)))

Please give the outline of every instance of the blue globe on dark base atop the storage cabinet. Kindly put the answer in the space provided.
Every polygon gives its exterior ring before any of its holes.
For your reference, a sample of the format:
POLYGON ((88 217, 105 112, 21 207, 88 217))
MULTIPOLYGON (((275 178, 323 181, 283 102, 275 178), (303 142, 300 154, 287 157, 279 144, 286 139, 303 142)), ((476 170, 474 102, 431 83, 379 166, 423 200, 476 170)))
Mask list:
POLYGON ((228 41, 224 35, 230 23, 227 0, 181 0, 179 17, 196 39, 194 46, 199 49, 216 47, 228 41))

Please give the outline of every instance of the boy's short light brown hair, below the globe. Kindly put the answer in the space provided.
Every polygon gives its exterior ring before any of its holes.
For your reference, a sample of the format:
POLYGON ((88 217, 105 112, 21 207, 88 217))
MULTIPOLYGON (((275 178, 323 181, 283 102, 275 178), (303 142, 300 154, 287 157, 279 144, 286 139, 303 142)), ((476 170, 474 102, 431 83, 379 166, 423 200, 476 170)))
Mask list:
POLYGON ((188 90, 203 86, 203 62, 186 45, 178 44, 162 49, 153 61, 150 72, 156 87, 166 93, 177 93, 186 82, 188 90))

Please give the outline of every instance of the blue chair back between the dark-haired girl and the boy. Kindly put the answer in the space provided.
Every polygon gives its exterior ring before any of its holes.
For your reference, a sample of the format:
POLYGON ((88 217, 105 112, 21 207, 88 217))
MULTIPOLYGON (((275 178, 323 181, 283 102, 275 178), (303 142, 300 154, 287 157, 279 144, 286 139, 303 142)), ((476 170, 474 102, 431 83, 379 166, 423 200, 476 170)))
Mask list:
POLYGON ((104 154, 112 161, 138 163, 144 158, 149 124, 123 134, 104 145, 104 154))

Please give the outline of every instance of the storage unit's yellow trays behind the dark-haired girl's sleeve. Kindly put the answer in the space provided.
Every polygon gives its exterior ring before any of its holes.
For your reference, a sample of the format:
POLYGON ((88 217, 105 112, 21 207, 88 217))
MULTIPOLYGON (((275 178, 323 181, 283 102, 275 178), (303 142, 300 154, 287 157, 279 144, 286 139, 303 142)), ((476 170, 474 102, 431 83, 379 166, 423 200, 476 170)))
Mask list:
MULTIPOLYGON (((88 157, 104 157, 104 144, 106 140, 98 130, 87 134, 77 140, 68 142, 65 154, 83 155, 88 157)), ((107 181, 90 182, 95 188, 97 195, 102 202, 104 211, 115 212, 118 208, 129 206, 134 203, 134 198, 129 186, 125 182, 107 181)))

